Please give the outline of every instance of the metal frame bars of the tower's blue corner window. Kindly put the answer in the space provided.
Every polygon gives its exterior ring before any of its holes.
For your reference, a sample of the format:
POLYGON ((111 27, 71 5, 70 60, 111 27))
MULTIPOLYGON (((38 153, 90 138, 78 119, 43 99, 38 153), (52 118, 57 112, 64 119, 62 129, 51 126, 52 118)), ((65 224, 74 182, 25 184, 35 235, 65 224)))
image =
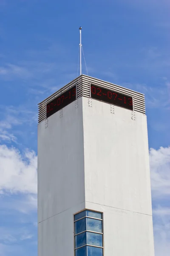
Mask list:
POLYGON ((102 248, 102 252, 103 252, 103 256, 104 256, 104 229, 103 229, 103 228, 104 228, 104 227, 103 227, 104 225, 103 225, 103 212, 95 211, 95 210, 92 210, 92 209, 83 209, 83 210, 81 210, 81 211, 79 211, 79 212, 77 212, 77 213, 75 213, 75 214, 73 215, 73 220, 74 220, 74 256, 76 256, 76 250, 77 250, 77 249, 82 248, 82 247, 85 247, 85 246, 86 246, 86 256, 88 256, 88 246, 97 247, 97 248, 102 248), (79 219, 77 219, 77 220, 74 220, 74 216, 75 216, 75 215, 79 214, 80 212, 84 212, 84 211, 85 211, 85 216, 84 216, 84 217, 79 218, 79 219), (102 215, 101 217, 102 217, 102 218, 90 217, 90 216, 87 215, 87 212, 86 212, 86 211, 101 213, 101 215, 102 215), (84 230, 84 231, 82 231, 82 232, 80 232, 80 233, 75 234, 75 222, 77 222, 77 221, 79 221, 79 220, 81 220, 81 219, 83 219, 83 218, 86 219, 86 221, 85 221, 85 223, 86 223, 86 230, 84 230), (91 219, 95 219, 95 220, 100 220, 100 221, 102 221, 102 233, 96 232, 96 231, 88 230, 88 229, 87 229, 87 218, 91 218, 91 219), (86 232, 86 244, 76 248, 76 246, 75 246, 75 236, 77 236, 77 235, 79 235, 79 234, 81 234, 81 233, 84 233, 84 232, 86 232), (88 244, 87 232, 96 233, 96 234, 101 234, 101 235, 102 235, 102 245, 103 245, 103 246, 96 246, 96 245, 88 244))

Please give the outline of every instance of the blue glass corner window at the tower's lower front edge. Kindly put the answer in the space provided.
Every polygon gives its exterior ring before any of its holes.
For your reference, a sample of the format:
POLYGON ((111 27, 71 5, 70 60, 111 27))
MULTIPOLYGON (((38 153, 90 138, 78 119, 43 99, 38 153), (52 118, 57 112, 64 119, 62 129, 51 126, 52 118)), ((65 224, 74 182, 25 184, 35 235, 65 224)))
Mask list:
POLYGON ((75 256, 103 256, 103 217, 85 210, 74 215, 75 256))

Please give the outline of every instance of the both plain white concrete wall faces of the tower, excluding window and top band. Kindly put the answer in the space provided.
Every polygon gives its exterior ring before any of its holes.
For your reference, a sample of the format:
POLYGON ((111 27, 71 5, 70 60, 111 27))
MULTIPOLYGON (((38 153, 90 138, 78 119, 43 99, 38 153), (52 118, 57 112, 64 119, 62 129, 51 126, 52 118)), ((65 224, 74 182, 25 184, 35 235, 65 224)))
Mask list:
POLYGON ((154 256, 146 116, 88 98, 38 125, 39 256, 74 256, 74 213, 103 212, 105 256, 154 256))

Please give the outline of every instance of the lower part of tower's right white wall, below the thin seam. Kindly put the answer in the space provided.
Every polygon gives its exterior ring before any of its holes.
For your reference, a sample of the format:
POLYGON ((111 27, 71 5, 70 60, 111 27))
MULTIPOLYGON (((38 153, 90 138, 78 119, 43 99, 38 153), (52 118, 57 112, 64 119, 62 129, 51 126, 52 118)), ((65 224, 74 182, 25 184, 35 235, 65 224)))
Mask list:
POLYGON ((86 202, 103 212, 105 256, 154 256, 152 216, 86 202))

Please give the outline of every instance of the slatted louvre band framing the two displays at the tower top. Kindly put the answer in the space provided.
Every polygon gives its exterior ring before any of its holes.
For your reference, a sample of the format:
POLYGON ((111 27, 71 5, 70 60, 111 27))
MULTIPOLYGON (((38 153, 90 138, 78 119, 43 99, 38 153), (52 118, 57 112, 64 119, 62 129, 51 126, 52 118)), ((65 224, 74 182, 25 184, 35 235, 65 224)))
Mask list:
POLYGON ((42 122, 46 119, 46 104, 50 102, 52 99, 59 96, 61 93, 63 93, 65 90, 68 90, 70 87, 77 85, 77 98, 80 98, 82 96, 84 97, 90 97, 90 84, 95 84, 98 86, 103 86, 105 88, 108 88, 110 90, 115 90, 118 93, 123 93, 125 95, 133 96, 133 110, 138 111, 140 113, 145 114, 145 102, 144 102, 144 94, 135 92, 133 90, 121 87, 116 84, 111 84, 90 76, 79 76, 77 79, 74 79, 69 84, 62 87, 60 90, 58 90, 56 93, 53 93, 51 96, 49 96, 47 99, 43 100, 39 103, 38 107, 38 122, 42 122))

